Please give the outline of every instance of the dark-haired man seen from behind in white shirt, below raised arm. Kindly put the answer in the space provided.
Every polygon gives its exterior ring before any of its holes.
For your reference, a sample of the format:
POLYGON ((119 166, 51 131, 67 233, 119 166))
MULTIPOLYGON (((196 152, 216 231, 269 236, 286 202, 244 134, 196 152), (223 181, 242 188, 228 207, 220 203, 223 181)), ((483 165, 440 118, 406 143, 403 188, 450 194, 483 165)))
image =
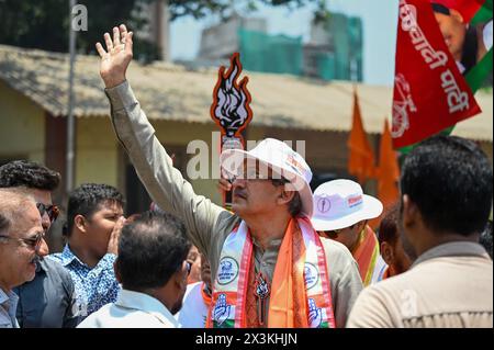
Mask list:
POLYGON ((114 303, 89 315, 79 328, 177 328, 191 262, 182 222, 170 214, 143 213, 122 228, 115 275, 122 291, 114 303), (146 253, 136 253, 146 252, 146 253))

